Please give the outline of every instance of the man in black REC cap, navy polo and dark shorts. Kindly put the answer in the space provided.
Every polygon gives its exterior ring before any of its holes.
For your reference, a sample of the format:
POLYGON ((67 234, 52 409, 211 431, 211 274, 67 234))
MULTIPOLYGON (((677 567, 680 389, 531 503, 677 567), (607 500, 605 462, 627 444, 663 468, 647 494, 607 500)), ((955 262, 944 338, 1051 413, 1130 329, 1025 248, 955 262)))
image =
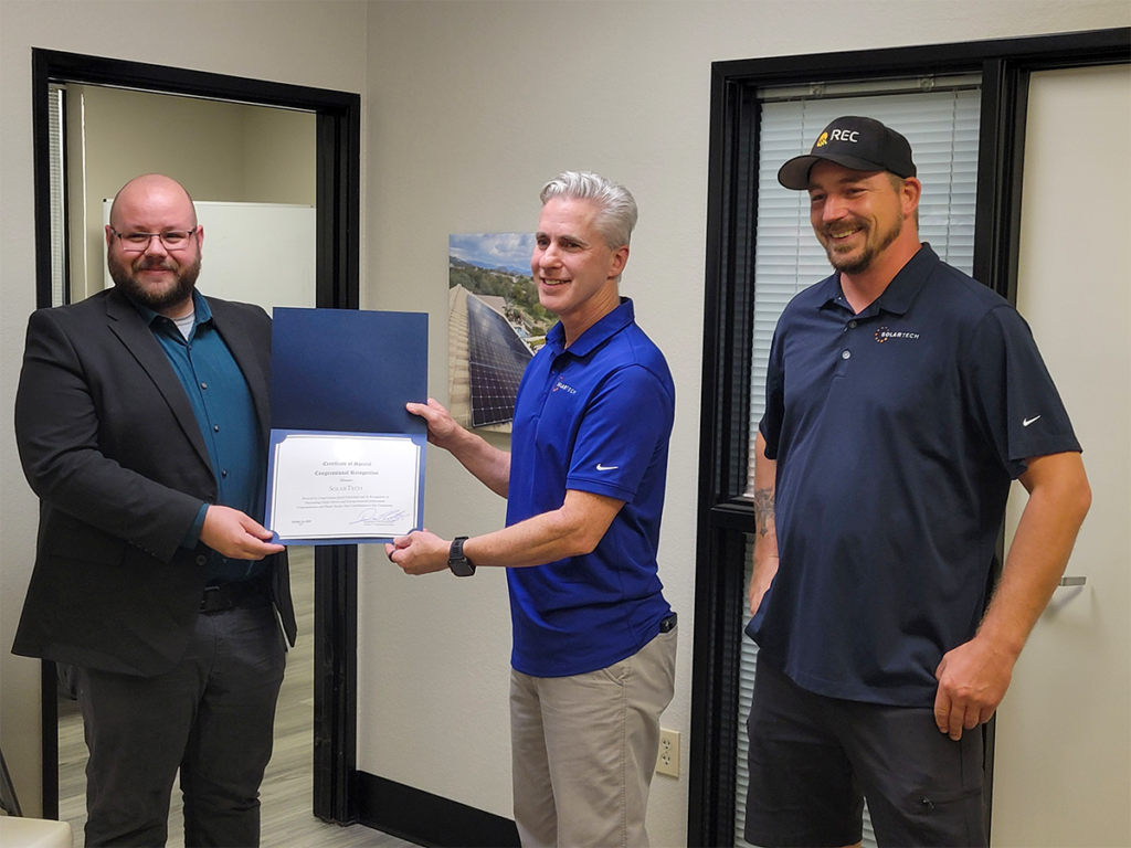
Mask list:
POLYGON ((835 268, 778 322, 754 448, 745 838, 984 846, 982 734, 1090 503, 1033 336, 921 244, 907 140, 830 123, 778 172, 835 268), (1029 500, 993 598, 1010 482, 1029 500))

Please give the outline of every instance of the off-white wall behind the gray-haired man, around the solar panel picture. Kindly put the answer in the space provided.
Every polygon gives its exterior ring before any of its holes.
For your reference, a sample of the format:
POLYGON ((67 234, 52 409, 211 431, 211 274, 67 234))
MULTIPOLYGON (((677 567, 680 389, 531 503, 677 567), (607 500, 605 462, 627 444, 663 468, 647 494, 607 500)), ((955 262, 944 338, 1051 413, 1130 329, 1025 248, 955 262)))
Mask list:
MULTIPOLYGON (((1126 0, 371 0, 363 302, 431 313, 437 397, 448 234, 533 230, 538 188, 564 168, 619 180, 640 205, 622 292, 677 392, 661 576, 681 616, 664 725, 684 734, 684 773, 654 784, 657 848, 685 845, 710 62, 1128 25, 1126 0)), ((450 460, 430 455, 428 479, 435 531, 500 526, 501 505, 450 460)), ((360 764, 509 814, 502 580, 409 579, 370 550, 362 577, 372 674, 361 681, 360 764)))

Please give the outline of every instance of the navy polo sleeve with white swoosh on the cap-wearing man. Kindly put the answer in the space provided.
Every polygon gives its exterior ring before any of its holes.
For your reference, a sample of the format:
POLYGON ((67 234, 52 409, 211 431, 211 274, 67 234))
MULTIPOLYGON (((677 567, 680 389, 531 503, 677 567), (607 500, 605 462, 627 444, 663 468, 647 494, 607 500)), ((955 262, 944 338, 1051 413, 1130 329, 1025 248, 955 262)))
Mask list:
POLYGON ((1079 451, 1068 410, 1012 306, 992 309, 970 346, 973 406, 1002 465, 1015 479, 1029 457, 1079 451))

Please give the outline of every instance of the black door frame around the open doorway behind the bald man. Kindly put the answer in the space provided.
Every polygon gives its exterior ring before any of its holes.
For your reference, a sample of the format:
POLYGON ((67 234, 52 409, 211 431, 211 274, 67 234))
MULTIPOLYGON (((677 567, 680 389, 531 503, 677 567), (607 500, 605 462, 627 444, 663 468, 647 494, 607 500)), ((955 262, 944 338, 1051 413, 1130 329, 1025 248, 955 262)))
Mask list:
MULTIPOLYGON (((361 244, 361 95, 169 68, 120 59, 32 49, 35 185, 35 291, 51 305, 48 84, 130 88, 206 99, 278 106, 316 114, 316 304, 357 309, 361 244)), ((314 552, 314 804, 325 821, 356 821, 357 546, 314 552)), ((59 817, 59 725, 54 664, 44 661, 43 811, 59 817)))

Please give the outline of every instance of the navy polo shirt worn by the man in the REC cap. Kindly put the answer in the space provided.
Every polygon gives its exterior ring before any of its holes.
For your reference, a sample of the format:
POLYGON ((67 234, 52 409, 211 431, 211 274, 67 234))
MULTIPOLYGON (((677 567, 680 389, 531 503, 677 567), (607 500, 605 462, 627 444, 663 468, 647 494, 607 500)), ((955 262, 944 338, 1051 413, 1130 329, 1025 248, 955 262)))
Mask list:
POLYGON ((975 634, 1010 481, 1078 451, 1028 325, 924 244, 853 314, 839 274, 774 335, 760 424, 779 569, 748 633, 803 689, 930 707, 975 634))

